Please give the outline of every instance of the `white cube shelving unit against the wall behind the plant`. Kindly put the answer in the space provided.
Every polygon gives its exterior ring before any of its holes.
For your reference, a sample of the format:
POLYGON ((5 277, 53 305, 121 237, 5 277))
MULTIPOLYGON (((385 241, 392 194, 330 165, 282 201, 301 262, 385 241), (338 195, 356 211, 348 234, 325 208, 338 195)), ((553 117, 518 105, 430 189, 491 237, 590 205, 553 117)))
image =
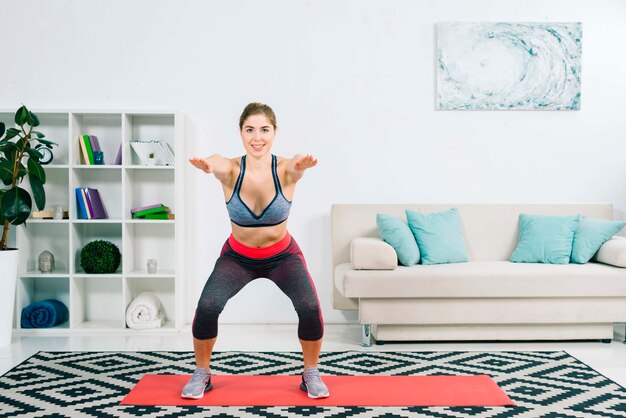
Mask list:
MULTIPOLYGON (((59 145, 46 165, 46 210, 61 205, 69 219, 29 219, 16 228, 20 249, 14 328, 22 334, 69 332, 178 332, 184 325, 184 121, 174 112, 38 111, 38 130, 59 145), (95 135, 105 165, 83 164, 79 135, 95 135), (143 166, 132 151, 131 139, 167 141, 174 150, 174 166, 143 166), (122 165, 114 165, 122 144, 122 165), (107 219, 78 219, 74 190, 98 189, 107 219), (175 220, 136 220, 130 209, 153 203, 169 206, 175 220), (122 262, 113 274, 88 274, 80 266, 81 248, 104 239, 116 244, 122 262), (39 254, 54 254, 56 269, 40 273, 39 254), (158 269, 148 274, 146 260, 156 258, 158 269), (126 327, 128 304, 140 292, 157 294, 165 312, 163 327, 132 330, 126 327), (58 299, 70 311, 68 322, 49 329, 20 329, 22 309, 43 299, 58 299)), ((1 120, 14 113, 1 111, 1 120)), ((22 187, 28 187, 28 182, 22 187)), ((34 210, 37 210, 34 208, 34 210)))

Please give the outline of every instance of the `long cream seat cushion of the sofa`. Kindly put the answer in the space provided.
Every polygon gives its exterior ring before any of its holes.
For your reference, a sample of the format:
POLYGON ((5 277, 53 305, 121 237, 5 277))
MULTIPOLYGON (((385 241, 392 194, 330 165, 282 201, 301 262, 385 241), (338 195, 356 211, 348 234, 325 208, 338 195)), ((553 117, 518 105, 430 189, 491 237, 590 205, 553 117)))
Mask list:
POLYGON ((348 298, 620 297, 626 296, 626 270, 601 263, 470 261, 357 271, 343 263, 335 268, 335 286, 348 298))

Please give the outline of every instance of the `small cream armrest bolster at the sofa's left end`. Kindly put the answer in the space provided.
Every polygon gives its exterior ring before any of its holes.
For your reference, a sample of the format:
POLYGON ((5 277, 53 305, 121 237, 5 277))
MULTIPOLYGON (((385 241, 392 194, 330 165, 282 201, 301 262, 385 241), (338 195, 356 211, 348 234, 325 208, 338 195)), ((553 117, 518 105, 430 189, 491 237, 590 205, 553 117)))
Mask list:
POLYGON ((350 263, 355 270, 394 270, 398 255, 380 238, 359 237, 350 243, 350 263))

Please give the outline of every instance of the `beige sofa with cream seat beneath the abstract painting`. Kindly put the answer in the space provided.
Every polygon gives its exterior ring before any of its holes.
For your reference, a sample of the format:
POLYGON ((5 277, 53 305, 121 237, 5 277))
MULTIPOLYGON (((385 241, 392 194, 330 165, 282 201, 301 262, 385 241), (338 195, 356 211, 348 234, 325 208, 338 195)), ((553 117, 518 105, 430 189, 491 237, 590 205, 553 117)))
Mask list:
POLYGON ((357 310, 363 345, 399 340, 613 338, 626 322, 626 238, 584 265, 511 263, 520 213, 612 219, 611 204, 337 204, 333 306, 357 310), (459 210, 470 261, 397 266, 376 213, 459 210), (607 264, 611 263, 611 264, 607 264))

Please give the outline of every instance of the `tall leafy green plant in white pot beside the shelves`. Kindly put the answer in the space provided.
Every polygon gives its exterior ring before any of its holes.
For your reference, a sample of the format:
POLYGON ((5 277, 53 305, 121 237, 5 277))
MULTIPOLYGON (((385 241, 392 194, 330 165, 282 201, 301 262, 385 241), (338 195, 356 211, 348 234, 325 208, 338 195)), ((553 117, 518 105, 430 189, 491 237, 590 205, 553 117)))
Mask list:
POLYGON ((52 146, 54 142, 43 139, 45 136, 35 130, 39 118, 26 106, 15 112, 15 127, 6 128, 0 122, 0 225, 3 225, 0 238, 0 271, 3 283, 0 292, 0 346, 11 342, 15 284, 17 280, 18 250, 9 248, 11 225, 26 223, 30 216, 33 198, 39 210, 46 205, 43 185, 46 175, 39 160, 43 155, 35 149, 39 143, 52 146), (31 193, 20 187, 28 177, 31 193), (8 274, 5 274, 8 273, 8 274), (8 279, 8 283, 5 280, 8 279))

